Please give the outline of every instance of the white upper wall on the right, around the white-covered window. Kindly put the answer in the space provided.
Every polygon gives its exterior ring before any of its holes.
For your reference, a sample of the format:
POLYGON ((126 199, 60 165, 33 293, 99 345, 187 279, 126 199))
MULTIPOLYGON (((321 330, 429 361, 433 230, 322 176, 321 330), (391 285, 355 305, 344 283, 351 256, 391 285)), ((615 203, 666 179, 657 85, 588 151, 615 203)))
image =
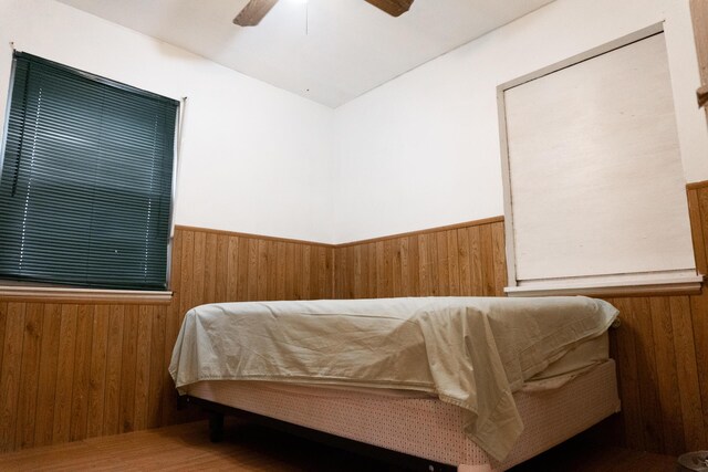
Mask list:
POLYGON ((708 179, 688 1, 556 0, 335 111, 335 240, 502 214, 497 85, 662 21, 685 177, 708 179))

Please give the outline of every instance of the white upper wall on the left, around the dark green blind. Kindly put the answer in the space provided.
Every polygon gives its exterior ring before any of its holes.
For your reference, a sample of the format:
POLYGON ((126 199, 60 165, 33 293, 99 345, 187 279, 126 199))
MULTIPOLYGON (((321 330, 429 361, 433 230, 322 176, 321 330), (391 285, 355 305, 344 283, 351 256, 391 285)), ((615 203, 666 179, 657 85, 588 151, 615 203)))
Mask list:
MULTIPOLYGON (((0 0, 0 116, 12 46, 187 96, 175 221, 331 242, 332 109, 51 0, 0 0)), ((0 132, 1 133, 1 132, 0 132)))

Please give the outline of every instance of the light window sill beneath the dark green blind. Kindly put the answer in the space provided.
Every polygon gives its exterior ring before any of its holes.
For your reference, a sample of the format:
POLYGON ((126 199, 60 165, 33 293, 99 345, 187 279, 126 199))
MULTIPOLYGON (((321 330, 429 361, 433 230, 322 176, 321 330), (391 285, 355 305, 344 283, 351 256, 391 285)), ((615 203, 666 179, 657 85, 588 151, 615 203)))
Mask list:
POLYGON ((20 285, 0 285, 1 301, 44 303, 131 303, 166 304, 171 302, 170 291, 59 289, 20 285))

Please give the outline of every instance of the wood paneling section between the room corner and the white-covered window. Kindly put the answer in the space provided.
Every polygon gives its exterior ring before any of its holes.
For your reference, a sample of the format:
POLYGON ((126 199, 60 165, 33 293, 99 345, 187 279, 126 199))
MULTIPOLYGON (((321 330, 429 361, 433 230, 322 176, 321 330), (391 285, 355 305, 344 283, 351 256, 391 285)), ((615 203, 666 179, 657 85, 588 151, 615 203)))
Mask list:
POLYGON ((502 296, 503 218, 340 244, 337 298, 502 296))

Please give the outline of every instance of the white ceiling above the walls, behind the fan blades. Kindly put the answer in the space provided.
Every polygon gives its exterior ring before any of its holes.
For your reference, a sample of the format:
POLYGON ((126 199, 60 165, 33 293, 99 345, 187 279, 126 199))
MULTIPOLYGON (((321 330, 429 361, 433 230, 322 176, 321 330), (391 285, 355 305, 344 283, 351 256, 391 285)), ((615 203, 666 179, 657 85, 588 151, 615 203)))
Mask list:
POLYGON ((250 28, 248 0, 59 1, 334 108, 552 0, 280 0, 250 28))

